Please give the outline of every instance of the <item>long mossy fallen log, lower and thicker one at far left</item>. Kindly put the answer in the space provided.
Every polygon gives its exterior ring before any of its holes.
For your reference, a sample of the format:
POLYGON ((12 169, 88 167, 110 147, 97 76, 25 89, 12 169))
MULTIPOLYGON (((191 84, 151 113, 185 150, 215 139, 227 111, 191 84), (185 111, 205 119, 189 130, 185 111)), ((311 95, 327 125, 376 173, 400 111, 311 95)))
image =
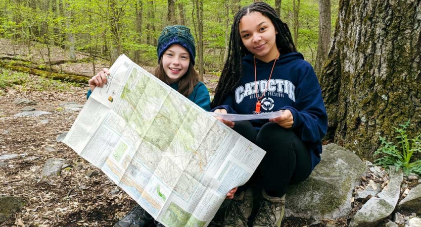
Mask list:
POLYGON ((80 76, 74 74, 67 74, 67 73, 56 73, 56 72, 48 72, 39 69, 28 68, 25 66, 16 66, 10 65, 3 61, 0 61, 0 67, 5 69, 15 70, 19 72, 29 73, 37 76, 43 76, 45 78, 53 79, 53 80, 61 80, 67 82, 75 82, 75 83, 83 83, 87 84, 88 80, 91 78, 89 76, 80 76))

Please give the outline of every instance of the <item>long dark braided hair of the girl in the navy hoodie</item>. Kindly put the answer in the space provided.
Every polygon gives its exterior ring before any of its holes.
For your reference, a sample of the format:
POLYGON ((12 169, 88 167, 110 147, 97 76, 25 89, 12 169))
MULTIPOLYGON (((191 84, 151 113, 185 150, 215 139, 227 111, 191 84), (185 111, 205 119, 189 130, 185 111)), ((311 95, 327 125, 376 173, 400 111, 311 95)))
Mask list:
POLYGON ((260 12, 270 19, 275 30, 278 32, 276 34, 276 47, 279 48, 281 54, 297 52, 288 25, 280 20, 272 7, 263 2, 253 3, 244 7, 236 14, 231 26, 228 57, 222 69, 218 85, 216 86, 215 96, 211 104, 212 108, 222 104, 223 100, 235 88, 243 76, 242 59, 250 51, 244 46, 241 40, 240 21, 243 16, 249 15, 252 12, 260 12))

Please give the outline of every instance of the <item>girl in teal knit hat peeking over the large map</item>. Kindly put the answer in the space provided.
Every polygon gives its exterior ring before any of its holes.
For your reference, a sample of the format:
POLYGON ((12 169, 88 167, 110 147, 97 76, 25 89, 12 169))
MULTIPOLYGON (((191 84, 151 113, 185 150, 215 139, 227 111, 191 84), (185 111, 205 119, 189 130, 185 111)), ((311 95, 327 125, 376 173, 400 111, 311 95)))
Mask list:
MULTIPOLYGON (((155 76, 205 109, 210 110, 210 96, 194 69, 196 47, 190 29, 181 25, 167 26, 158 38, 158 67, 155 76)), ((110 72, 104 68, 89 81, 87 98, 97 86, 107 83, 110 72)), ((129 226, 129 225, 128 225, 129 226)))

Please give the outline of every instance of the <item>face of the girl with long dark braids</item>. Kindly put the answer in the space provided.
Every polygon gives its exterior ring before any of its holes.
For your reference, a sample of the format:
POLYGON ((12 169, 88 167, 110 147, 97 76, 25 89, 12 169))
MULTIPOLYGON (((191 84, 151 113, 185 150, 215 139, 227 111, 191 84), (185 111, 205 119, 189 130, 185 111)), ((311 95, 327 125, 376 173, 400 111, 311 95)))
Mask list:
POLYGON ((268 17, 260 12, 251 12, 241 18, 239 28, 244 46, 256 59, 270 62, 276 58, 277 31, 268 17))

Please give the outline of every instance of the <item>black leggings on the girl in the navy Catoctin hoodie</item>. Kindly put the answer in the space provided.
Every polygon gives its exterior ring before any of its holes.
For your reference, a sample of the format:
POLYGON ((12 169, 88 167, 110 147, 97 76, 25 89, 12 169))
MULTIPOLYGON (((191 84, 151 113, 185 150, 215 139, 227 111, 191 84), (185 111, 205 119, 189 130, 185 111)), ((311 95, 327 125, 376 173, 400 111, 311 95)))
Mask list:
POLYGON ((253 184, 263 184, 268 195, 282 197, 289 185, 310 175, 310 151, 292 130, 269 122, 257 133, 249 121, 235 122, 233 130, 266 151, 256 172, 238 192, 253 184))

